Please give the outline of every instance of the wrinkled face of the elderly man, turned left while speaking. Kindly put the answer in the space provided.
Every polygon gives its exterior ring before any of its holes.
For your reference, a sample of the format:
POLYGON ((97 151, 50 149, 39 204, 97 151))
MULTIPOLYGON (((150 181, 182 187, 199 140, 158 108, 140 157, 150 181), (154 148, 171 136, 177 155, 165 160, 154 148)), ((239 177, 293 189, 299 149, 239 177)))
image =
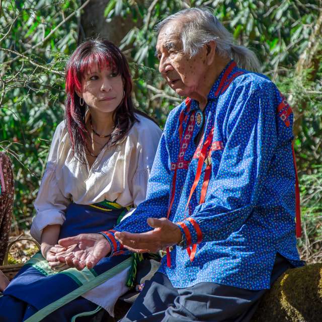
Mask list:
POLYGON ((159 59, 159 71, 169 86, 180 96, 188 97, 202 88, 207 63, 204 50, 192 58, 183 52, 180 25, 180 22, 169 23, 160 31, 156 56, 159 59))

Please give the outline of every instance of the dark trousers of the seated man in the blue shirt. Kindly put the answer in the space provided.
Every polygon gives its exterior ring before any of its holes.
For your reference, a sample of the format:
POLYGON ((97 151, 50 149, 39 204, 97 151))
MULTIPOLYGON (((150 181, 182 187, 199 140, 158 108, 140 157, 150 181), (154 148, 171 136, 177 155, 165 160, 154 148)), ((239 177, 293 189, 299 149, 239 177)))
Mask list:
MULTIPOLYGON (((277 254, 271 285, 291 264, 277 254)), ((267 290, 252 291, 216 283, 175 288, 162 273, 145 286, 121 322, 247 322, 267 290)))

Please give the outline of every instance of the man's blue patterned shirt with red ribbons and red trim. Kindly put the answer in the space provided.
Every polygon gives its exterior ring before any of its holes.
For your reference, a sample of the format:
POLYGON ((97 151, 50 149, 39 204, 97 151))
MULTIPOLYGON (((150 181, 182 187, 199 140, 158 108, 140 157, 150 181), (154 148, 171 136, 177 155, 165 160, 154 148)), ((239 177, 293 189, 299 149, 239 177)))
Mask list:
MULTIPOLYGON (((146 219, 167 217, 173 193, 169 219, 181 229, 183 245, 171 251, 171 267, 163 258, 159 272, 174 287, 215 282, 269 288, 276 253, 295 267, 303 265, 295 237, 292 122, 292 110, 266 76, 230 61, 215 81, 204 113, 189 99, 171 111, 146 201, 115 230, 151 230, 146 219), (199 134, 203 143, 211 133, 212 144, 186 209, 202 148, 196 139, 199 134), (195 244, 191 261, 186 248, 195 244)), ((123 253, 115 230, 104 233, 112 255, 123 253)))

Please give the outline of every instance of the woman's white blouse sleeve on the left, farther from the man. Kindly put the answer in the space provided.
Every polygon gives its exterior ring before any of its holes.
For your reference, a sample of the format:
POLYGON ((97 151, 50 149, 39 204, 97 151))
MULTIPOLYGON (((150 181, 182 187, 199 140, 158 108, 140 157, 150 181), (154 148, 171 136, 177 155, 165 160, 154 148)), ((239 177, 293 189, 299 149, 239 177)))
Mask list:
POLYGON ((60 191, 55 176, 57 167, 58 149, 64 130, 61 122, 54 133, 44 176, 41 180, 37 198, 34 202, 36 216, 33 219, 30 233, 40 242, 42 230, 48 225, 61 225, 65 220, 65 210, 70 203, 60 191))

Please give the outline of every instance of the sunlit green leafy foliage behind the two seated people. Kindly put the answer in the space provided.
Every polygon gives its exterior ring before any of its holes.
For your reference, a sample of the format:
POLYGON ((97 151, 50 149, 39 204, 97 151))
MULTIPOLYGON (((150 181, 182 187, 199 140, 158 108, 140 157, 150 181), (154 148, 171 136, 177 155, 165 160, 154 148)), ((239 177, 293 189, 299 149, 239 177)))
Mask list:
MULTIPOLYGON (((83 7, 86 2, 83 2, 83 7)), ((30 226, 33 200, 56 125, 63 119, 68 55, 78 41, 81 1, 2 2, 0 17, 0 150, 11 154, 16 177, 14 228, 30 226)), ((153 26, 184 8, 214 10, 236 43, 251 47, 288 97, 297 121, 295 149, 301 184, 302 255, 322 258, 322 5, 310 1, 109 1, 105 17, 132 14, 121 43, 131 62, 137 107, 161 126, 180 101, 157 71, 153 26)), ((95 17, 93 17, 95 19, 95 17)), ((116 27, 117 28, 117 27, 116 27)))

